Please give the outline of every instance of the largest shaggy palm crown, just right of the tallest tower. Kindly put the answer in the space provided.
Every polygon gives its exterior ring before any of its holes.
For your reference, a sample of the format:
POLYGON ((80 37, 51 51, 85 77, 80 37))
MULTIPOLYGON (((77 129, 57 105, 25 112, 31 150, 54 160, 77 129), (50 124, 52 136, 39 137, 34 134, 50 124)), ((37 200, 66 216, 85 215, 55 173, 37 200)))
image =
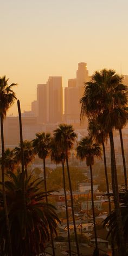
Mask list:
POLYGON ((95 117, 104 110, 111 113, 114 109, 127 104, 127 86, 122 84, 123 76, 112 69, 96 71, 92 81, 85 84, 84 97, 81 98, 81 118, 95 117))

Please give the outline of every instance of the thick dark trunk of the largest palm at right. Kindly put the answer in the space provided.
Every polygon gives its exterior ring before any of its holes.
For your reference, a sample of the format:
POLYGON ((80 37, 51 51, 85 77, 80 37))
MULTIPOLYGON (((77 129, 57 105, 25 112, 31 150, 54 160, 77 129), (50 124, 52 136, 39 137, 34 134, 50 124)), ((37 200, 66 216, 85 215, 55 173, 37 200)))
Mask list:
POLYGON ((116 211, 117 217, 117 226, 118 226, 118 238, 120 242, 118 243, 119 247, 119 255, 126 255, 126 245, 124 239, 124 230, 123 224, 121 220, 121 212, 119 206, 119 193, 118 193, 118 182, 117 182, 117 168, 116 168, 116 158, 114 152, 114 140, 113 140, 113 132, 109 132, 110 137, 110 147, 111 147, 111 176, 112 176, 112 189, 113 189, 113 199, 114 199, 114 208, 116 211))

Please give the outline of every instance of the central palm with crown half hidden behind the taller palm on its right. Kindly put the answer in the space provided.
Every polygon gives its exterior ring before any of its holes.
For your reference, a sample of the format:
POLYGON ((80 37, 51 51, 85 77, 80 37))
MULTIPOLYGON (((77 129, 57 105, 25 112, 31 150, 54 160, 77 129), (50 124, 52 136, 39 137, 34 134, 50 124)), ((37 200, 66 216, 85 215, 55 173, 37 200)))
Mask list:
POLYGON ((69 255, 71 256, 71 241, 70 241, 70 230, 69 230, 69 219, 68 219, 68 203, 67 203, 67 194, 66 194, 66 181, 65 181, 65 155, 60 151, 59 146, 55 140, 52 140, 51 144, 51 159, 56 164, 62 163, 62 175, 63 175, 63 190, 65 194, 65 205, 66 205, 66 219, 67 219, 67 231, 68 231, 68 247, 69 247, 69 255))

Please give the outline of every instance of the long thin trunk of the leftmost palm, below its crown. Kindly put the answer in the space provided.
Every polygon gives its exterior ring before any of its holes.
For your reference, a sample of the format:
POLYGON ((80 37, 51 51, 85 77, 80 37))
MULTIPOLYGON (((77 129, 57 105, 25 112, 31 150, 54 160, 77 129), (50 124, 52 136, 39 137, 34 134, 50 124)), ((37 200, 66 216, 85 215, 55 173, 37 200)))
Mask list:
POLYGON ((5 212, 5 220, 6 220, 6 226, 7 226, 7 236, 8 236, 9 255, 12 256, 11 235, 10 235, 10 226, 9 226, 9 216, 8 216, 8 208, 7 208, 7 199, 6 199, 6 192, 5 192, 5 180, 4 180, 4 131, 3 131, 3 114, 1 114, 1 143, 2 143, 2 189, 3 189, 4 212, 5 212))

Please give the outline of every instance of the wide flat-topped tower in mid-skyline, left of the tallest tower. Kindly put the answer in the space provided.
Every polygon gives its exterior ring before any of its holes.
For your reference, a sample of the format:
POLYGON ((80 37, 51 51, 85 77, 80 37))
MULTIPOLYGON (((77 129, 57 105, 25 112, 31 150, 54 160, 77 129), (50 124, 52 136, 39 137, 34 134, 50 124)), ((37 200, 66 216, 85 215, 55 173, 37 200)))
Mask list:
POLYGON ((51 124, 62 121, 62 77, 49 76, 47 81, 47 122, 51 124))

